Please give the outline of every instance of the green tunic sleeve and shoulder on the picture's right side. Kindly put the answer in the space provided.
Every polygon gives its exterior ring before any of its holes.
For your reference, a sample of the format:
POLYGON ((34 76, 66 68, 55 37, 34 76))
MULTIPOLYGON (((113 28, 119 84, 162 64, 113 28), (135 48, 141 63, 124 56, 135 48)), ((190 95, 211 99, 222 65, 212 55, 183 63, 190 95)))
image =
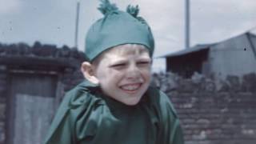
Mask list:
POLYGON ((170 98, 161 90, 150 87, 147 91, 150 94, 150 101, 153 103, 158 113, 159 142, 162 144, 184 144, 182 127, 178 114, 170 98))

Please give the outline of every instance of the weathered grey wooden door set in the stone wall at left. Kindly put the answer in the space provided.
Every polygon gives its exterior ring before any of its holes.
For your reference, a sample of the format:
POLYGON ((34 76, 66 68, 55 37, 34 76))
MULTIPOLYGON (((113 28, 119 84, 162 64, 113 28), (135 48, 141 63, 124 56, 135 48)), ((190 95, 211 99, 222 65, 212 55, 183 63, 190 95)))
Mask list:
POLYGON ((7 110, 8 144, 41 144, 54 115, 54 74, 11 74, 7 110))

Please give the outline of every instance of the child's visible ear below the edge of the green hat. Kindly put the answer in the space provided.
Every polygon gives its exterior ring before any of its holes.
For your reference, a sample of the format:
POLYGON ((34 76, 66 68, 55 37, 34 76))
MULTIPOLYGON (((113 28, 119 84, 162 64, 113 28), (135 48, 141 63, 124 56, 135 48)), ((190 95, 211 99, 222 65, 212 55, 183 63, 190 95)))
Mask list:
POLYGON ((94 84, 99 84, 98 78, 94 75, 93 66, 90 62, 82 62, 81 71, 83 76, 89 81, 94 84))

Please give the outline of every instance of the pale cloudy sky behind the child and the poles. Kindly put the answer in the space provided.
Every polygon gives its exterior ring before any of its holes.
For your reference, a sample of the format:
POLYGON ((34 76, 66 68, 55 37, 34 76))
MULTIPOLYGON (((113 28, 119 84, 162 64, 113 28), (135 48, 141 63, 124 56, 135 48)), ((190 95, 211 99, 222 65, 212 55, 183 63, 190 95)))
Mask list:
MULTIPOLYGON (((75 0, 0 0, 0 42, 35 41, 74 46, 75 0)), ((78 48, 84 49, 86 31, 102 14, 98 0, 81 0, 78 48)), ((138 4, 140 16, 154 33, 155 57, 184 47, 185 0, 110 0, 120 10, 138 4)), ((190 45, 222 41, 256 26, 255 0, 190 0, 190 45)), ((154 60, 154 71, 165 70, 164 59, 154 60)))

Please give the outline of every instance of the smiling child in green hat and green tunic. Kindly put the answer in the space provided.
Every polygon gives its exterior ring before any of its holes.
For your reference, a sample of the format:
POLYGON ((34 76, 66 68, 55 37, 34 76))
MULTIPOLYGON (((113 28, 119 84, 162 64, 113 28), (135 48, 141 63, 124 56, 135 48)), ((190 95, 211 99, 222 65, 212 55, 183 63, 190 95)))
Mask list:
POLYGON ((86 36, 86 78, 70 90, 50 126, 46 144, 183 144, 174 108, 150 86, 154 38, 137 17, 110 2, 86 36))

